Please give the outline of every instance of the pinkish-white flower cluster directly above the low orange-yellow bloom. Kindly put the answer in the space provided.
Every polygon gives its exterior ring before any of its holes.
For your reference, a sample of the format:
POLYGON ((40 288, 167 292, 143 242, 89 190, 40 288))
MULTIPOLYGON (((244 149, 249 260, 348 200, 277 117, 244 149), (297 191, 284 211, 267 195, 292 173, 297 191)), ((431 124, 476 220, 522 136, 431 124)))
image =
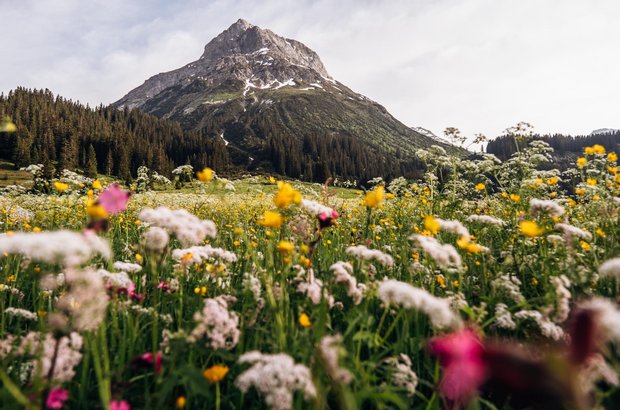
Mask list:
POLYGON ((226 295, 205 299, 204 308, 194 313, 198 324, 188 340, 196 342, 206 335, 212 349, 234 348, 239 343, 239 316, 228 311, 228 304, 235 300, 235 297, 226 295))

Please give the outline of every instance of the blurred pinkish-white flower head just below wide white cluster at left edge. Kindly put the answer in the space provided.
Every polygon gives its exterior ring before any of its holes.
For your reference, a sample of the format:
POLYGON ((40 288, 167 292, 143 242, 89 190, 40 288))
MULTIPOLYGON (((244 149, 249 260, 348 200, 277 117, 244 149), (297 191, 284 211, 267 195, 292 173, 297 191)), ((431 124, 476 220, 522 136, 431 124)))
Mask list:
MULTIPOLYGON (((101 275, 91 269, 68 269, 64 274, 69 288, 56 307, 71 318, 75 330, 94 330, 105 318, 109 297, 101 275)), ((51 316, 50 316, 51 319, 51 316)))

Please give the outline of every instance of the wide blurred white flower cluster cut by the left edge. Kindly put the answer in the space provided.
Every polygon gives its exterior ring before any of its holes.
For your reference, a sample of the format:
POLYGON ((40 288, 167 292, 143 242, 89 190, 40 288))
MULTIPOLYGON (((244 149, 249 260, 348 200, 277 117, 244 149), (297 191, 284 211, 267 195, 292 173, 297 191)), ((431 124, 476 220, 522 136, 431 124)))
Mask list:
POLYGON ((48 263, 77 266, 97 254, 108 259, 112 251, 106 240, 94 233, 60 230, 1 235, 0 254, 19 254, 48 263))

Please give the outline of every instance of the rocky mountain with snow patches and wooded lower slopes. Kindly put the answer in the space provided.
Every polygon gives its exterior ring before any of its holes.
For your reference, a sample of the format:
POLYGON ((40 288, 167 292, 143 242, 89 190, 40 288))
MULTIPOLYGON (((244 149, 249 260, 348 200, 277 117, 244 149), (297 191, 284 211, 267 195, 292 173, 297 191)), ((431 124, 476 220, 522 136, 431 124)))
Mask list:
POLYGON ((333 79, 304 44, 242 19, 115 105, 221 138, 236 165, 303 179, 411 174, 417 148, 442 145, 333 79))

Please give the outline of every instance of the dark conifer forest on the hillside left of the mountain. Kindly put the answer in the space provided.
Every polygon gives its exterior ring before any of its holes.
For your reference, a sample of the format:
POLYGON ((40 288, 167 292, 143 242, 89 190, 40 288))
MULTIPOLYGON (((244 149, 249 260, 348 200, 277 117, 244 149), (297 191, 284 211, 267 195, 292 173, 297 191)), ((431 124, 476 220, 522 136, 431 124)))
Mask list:
POLYGON ((50 173, 80 168, 121 179, 135 177, 142 165, 167 176, 184 164, 220 172, 231 167, 220 139, 139 110, 93 109, 49 90, 17 88, 0 95, 0 115, 17 125, 0 143, 0 158, 16 167, 43 164, 50 173))

